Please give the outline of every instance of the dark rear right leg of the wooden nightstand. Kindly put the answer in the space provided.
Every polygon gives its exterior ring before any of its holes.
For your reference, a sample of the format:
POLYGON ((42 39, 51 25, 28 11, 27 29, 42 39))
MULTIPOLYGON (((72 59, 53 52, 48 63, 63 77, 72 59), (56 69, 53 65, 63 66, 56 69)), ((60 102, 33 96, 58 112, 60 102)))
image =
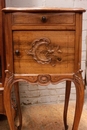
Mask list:
POLYGON ((67 112, 68 112, 68 104, 69 104, 70 91, 71 91, 71 81, 66 81, 65 105, 64 105, 64 113, 63 113, 63 120, 64 120, 65 130, 68 130, 67 112))

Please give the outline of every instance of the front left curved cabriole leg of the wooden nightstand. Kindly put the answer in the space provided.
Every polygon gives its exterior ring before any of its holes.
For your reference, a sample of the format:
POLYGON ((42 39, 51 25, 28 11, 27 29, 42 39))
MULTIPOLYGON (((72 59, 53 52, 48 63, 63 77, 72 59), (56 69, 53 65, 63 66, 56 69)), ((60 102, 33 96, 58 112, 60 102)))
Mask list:
POLYGON ((11 101, 12 81, 13 81, 13 75, 10 75, 10 73, 7 71, 6 78, 5 78, 5 85, 4 85, 4 106, 5 106, 6 116, 8 119, 10 130, 18 130, 17 127, 15 127, 14 115, 12 110, 13 109, 12 101, 11 101))

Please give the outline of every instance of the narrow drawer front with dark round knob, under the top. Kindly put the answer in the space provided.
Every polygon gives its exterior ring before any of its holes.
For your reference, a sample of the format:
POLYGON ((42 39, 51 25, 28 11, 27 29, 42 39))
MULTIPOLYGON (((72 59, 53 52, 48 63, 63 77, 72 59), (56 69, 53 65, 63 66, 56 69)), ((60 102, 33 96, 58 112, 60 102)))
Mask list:
POLYGON ((30 25, 75 25, 74 13, 13 13, 12 23, 30 25))

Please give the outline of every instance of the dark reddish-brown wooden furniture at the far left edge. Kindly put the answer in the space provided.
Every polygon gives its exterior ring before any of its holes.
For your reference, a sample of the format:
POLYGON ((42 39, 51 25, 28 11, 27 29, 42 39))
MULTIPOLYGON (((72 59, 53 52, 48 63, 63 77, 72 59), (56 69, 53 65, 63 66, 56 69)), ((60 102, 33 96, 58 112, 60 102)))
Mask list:
POLYGON ((3 45, 3 22, 2 8, 5 7, 5 1, 0 0, 0 114, 5 114, 4 110, 4 45, 3 45))

